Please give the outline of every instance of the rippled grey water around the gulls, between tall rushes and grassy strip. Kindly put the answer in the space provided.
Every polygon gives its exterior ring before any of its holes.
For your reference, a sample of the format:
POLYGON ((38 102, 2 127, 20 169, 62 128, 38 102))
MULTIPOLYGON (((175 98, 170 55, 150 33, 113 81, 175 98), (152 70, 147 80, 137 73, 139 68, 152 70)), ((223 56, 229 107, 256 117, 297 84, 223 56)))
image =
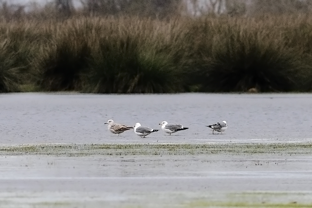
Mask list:
POLYGON ((311 94, 0 94, 2 144, 17 143, 205 143, 311 141, 311 94), (140 138, 119 137, 104 123, 160 129, 158 123, 189 127, 140 138), (225 133, 205 125, 226 120, 225 133))

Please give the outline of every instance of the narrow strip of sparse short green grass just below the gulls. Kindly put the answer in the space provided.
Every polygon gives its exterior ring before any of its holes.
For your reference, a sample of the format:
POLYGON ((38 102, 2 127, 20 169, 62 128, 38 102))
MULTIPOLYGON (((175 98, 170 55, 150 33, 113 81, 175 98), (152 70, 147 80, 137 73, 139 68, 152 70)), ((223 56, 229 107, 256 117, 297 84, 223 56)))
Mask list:
POLYGON ((252 155, 312 154, 311 142, 294 143, 73 143, 0 145, 0 155, 252 155))

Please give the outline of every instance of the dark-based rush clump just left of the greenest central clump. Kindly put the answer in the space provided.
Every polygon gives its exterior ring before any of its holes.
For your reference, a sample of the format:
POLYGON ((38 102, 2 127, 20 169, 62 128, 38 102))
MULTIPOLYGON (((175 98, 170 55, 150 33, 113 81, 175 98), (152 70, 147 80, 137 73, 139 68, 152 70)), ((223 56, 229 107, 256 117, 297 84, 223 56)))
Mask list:
POLYGON ((37 60, 39 85, 43 90, 80 90, 80 74, 88 68, 90 49, 82 38, 71 34, 56 37, 41 49, 37 60))

